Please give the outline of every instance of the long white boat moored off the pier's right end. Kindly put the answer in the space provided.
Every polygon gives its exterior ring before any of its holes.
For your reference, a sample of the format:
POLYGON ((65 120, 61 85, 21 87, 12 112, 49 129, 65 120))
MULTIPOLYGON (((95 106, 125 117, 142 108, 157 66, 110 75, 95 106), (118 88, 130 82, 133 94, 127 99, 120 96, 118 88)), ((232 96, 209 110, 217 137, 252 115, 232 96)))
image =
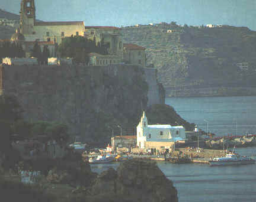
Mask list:
POLYGON ((210 165, 245 165, 245 164, 254 164, 255 160, 246 157, 240 156, 232 152, 231 154, 226 154, 226 157, 213 158, 209 161, 210 165))

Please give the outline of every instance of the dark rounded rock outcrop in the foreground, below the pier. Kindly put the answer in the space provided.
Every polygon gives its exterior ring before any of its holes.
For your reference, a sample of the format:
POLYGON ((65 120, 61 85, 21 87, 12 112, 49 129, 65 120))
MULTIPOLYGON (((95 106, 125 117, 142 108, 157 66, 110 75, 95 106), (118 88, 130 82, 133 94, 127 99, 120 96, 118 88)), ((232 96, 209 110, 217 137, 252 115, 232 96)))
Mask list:
POLYGON ((171 180, 153 162, 129 160, 117 171, 102 172, 92 185, 92 196, 122 197, 123 201, 178 201, 177 190, 171 180))

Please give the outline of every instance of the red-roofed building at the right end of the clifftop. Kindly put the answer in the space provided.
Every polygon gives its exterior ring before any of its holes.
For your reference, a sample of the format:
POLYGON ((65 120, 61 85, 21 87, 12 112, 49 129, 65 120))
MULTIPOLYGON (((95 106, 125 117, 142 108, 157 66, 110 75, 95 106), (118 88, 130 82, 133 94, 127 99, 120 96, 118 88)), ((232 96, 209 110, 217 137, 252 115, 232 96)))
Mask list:
POLYGON ((146 48, 136 44, 123 44, 124 63, 146 66, 146 48))

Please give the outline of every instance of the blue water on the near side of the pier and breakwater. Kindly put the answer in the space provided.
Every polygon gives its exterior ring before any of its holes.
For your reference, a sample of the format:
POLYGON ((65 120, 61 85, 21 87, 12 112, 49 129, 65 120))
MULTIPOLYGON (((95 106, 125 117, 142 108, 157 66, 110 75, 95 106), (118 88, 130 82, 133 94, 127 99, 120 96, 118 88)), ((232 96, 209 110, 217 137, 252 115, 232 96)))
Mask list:
MULTIPOLYGON (((256 159, 256 148, 237 148, 236 151, 256 159)), ((162 161, 157 164, 167 178, 172 180, 180 202, 256 201, 256 164, 225 167, 162 161)), ((119 162, 94 164, 91 169, 100 173, 118 166, 119 162)))

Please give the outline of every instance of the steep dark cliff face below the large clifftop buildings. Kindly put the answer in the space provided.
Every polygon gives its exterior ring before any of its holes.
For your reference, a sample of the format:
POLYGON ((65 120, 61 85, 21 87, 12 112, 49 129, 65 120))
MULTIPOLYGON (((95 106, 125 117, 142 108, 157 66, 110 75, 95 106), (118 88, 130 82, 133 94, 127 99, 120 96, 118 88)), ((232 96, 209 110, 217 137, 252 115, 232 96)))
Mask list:
MULTIPOLYGON (((110 135, 108 126, 130 127, 139 119, 148 89, 158 86, 153 77, 148 85, 146 74, 138 66, 116 65, 3 66, 0 75, 4 93, 17 96, 26 120, 67 123, 72 135, 100 139, 110 135)), ((153 96, 150 103, 160 100, 151 101, 153 96)))

